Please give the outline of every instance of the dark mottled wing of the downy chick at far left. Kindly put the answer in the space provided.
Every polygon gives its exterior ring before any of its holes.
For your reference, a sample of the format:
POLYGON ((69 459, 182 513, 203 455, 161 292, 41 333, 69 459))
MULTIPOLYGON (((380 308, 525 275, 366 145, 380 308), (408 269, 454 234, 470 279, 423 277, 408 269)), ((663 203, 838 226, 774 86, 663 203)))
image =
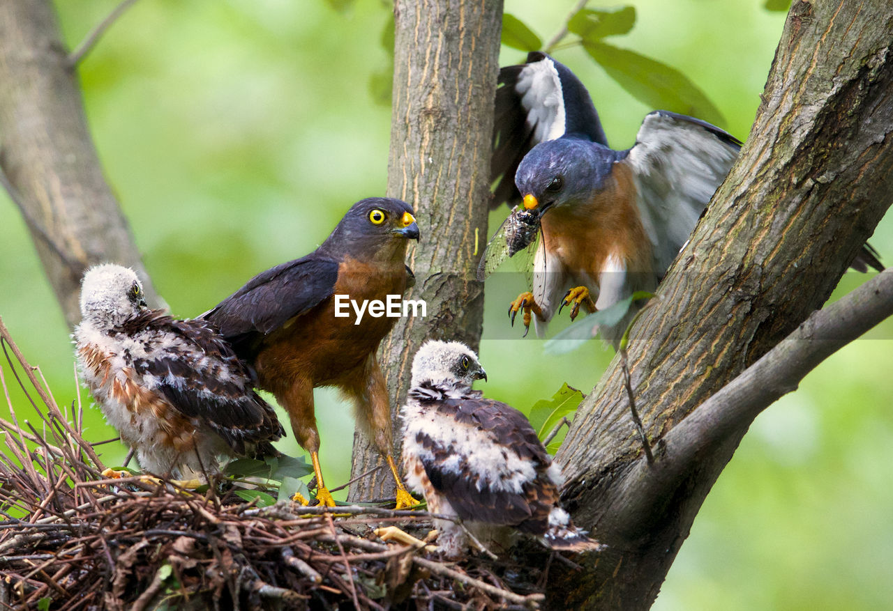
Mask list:
POLYGON ((245 366, 213 325, 204 320, 174 320, 159 310, 133 324, 156 333, 146 358, 133 367, 154 391, 196 425, 217 433, 238 454, 249 446, 268 449, 285 435, 272 407, 252 388, 245 366), (151 376, 151 378, 147 378, 151 376))

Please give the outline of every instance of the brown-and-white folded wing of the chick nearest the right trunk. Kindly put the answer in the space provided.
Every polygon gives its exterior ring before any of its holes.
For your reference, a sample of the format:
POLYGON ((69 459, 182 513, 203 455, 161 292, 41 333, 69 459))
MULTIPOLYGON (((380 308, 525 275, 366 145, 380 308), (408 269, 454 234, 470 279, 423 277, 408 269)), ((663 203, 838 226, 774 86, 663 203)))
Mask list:
POLYGON ((486 399, 437 402, 450 431, 421 432, 421 464, 431 485, 458 516, 544 533, 558 491, 546 475, 550 459, 524 415, 486 399))

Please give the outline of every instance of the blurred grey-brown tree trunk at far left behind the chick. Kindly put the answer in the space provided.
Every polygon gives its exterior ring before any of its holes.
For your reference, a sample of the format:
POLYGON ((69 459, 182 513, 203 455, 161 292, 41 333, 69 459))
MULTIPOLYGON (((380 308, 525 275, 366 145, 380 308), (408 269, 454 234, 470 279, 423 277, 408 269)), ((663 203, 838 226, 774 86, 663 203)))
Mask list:
POLYGON ((0 83, 0 167, 65 319, 80 320, 80 277, 102 261, 136 269, 157 303, 127 220, 105 184, 48 0, 0 3, 0 83))

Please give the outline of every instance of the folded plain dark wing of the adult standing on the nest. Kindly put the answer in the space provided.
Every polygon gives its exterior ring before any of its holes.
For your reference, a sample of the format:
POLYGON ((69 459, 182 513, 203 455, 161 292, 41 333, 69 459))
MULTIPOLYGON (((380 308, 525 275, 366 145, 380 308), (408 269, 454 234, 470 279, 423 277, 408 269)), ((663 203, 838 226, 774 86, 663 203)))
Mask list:
POLYGON ((314 254, 258 274, 199 318, 213 322, 237 350, 246 336, 275 331, 334 293, 338 261, 314 254))

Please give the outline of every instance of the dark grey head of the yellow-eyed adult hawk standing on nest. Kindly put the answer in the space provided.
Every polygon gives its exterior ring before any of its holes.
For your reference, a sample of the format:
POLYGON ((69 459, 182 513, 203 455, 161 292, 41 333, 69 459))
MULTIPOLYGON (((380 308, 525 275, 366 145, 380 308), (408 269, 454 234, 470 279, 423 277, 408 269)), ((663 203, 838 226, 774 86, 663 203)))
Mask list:
MULTIPOLYGON (((326 245, 355 256, 405 252, 407 240, 419 239, 413 207, 389 197, 356 202, 332 231, 326 245)), ((402 254, 401 254, 402 259, 402 254)))

